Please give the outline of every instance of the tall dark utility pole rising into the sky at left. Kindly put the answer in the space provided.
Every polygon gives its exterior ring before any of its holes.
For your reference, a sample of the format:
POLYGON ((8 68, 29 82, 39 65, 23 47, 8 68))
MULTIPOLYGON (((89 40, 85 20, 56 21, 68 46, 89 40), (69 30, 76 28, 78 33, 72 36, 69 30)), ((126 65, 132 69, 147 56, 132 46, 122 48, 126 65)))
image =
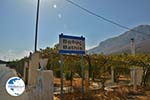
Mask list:
POLYGON ((37 35, 38 35, 38 22, 39 22, 39 6, 40 6, 40 0, 37 1, 37 13, 36 13, 36 27, 35 27, 35 45, 34 45, 34 51, 37 51, 37 35))

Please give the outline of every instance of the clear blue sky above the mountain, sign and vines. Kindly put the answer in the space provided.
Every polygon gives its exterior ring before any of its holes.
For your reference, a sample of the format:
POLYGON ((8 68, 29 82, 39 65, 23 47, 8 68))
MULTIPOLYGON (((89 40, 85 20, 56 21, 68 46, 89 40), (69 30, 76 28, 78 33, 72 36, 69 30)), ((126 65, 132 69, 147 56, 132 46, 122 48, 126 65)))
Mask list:
MULTIPOLYGON (((86 48, 127 30, 88 14, 65 0, 40 0, 38 49, 53 47, 60 33, 84 36, 86 48)), ((101 16, 133 28, 150 24, 150 0, 72 0, 101 16)), ((0 0, 0 59, 34 50, 37 0, 0 0)))

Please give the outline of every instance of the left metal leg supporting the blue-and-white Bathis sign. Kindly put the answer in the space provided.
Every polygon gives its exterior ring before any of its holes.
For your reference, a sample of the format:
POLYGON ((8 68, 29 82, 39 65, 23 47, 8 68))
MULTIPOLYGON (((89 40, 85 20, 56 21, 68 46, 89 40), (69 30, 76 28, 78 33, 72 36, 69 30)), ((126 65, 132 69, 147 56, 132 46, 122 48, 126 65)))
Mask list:
POLYGON ((60 100, 63 100, 63 55, 60 54, 60 73, 61 73, 61 90, 60 90, 60 100))

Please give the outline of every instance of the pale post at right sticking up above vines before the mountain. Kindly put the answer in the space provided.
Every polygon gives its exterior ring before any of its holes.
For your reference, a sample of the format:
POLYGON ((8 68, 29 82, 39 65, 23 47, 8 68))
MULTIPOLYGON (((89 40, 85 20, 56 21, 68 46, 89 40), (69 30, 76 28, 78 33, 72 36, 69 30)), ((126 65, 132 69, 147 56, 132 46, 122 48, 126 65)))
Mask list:
MULTIPOLYGON (((131 38, 131 54, 135 56, 135 40, 134 38, 131 38)), ((133 89, 134 91, 137 90, 137 73, 135 66, 133 67, 133 89)))

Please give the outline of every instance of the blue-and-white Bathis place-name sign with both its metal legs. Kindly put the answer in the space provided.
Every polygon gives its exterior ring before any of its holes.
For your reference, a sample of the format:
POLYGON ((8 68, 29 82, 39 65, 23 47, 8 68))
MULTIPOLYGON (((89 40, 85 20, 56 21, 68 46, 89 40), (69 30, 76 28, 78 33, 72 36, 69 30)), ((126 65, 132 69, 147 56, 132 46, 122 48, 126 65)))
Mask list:
POLYGON ((84 98, 84 54, 85 54, 85 38, 59 35, 59 54, 61 59, 61 100, 63 100, 63 58, 62 54, 80 54, 82 66, 82 98, 84 98))

